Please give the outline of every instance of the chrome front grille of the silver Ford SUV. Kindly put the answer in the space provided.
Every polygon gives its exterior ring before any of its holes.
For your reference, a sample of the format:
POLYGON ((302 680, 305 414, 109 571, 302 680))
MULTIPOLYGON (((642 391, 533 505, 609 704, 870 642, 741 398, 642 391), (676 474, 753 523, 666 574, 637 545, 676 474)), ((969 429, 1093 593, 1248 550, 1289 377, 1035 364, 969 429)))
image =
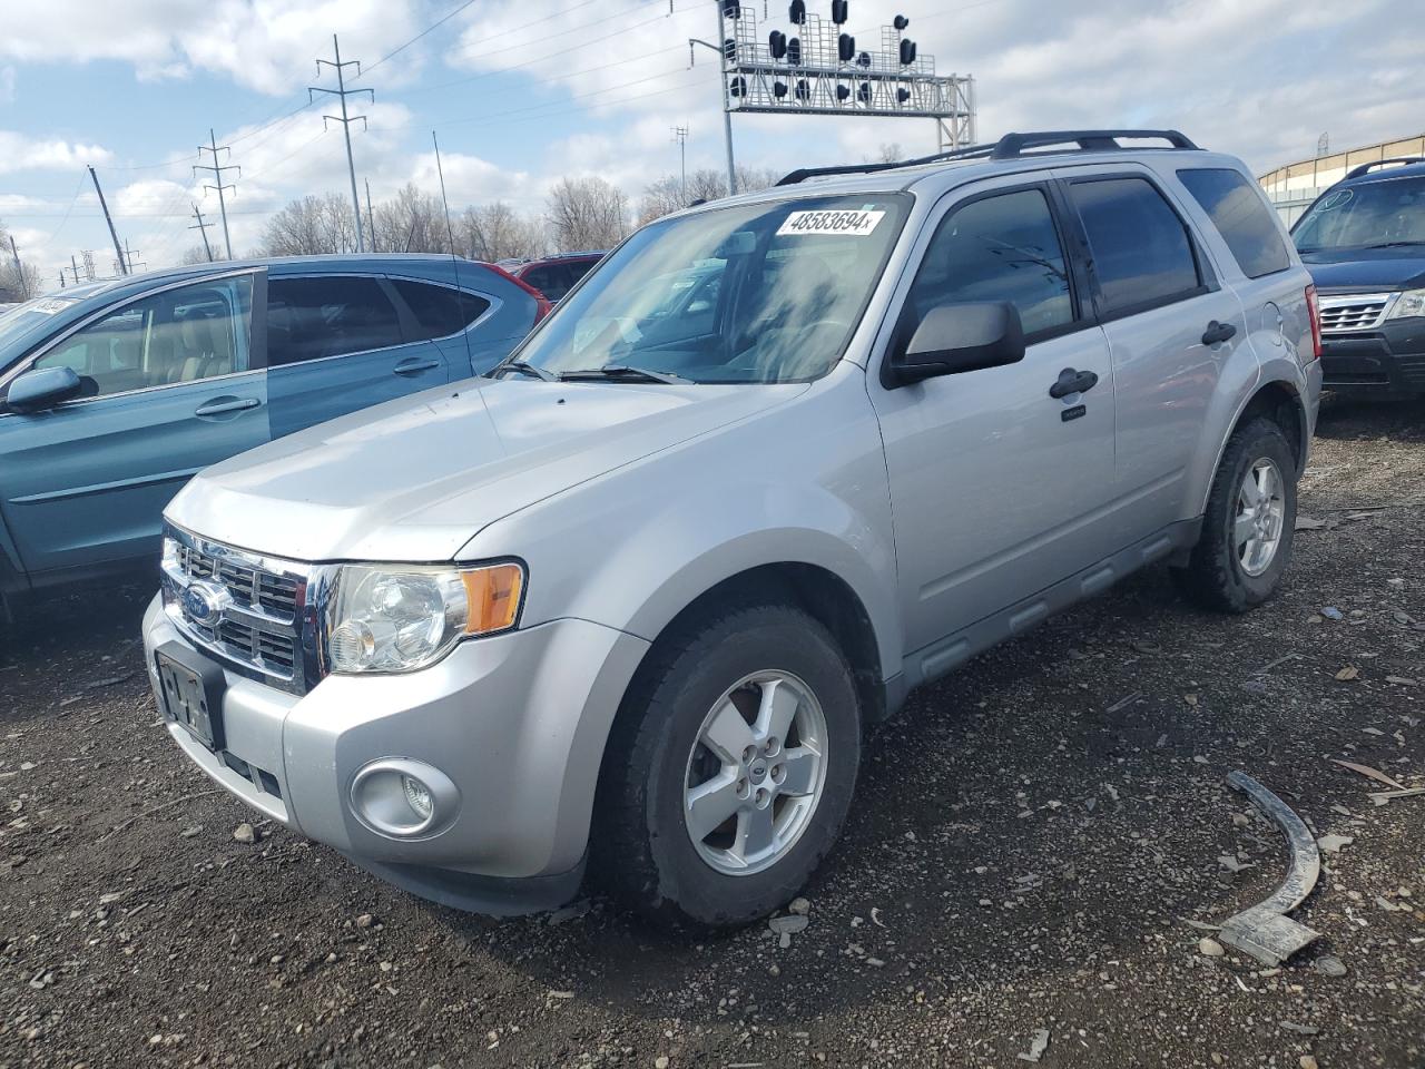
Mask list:
POLYGON ((305 694, 322 671, 315 637, 321 569, 209 542, 171 523, 164 534, 177 544, 161 576, 174 626, 239 674, 305 694), (227 592, 218 619, 204 623, 184 607, 184 592, 197 582, 227 592))

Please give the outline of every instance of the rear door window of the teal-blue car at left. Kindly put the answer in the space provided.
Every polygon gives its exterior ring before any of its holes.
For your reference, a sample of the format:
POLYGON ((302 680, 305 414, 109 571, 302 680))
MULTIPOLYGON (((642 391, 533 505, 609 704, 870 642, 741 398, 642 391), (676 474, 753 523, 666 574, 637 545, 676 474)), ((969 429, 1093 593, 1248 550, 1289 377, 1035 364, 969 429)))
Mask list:
POLYGON ((268 366, 402 344, 380 282, 356 275, 268 279, 268 366))

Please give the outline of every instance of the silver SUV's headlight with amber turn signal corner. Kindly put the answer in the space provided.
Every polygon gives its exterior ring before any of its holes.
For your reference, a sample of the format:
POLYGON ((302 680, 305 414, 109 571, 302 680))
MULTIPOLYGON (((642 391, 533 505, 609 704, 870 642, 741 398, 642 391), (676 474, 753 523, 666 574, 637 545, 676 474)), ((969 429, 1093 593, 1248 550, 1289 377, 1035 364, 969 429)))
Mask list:
POLYGON ((343 564, 326 623, 332 671, 415 671, 462 639, 514 626, 519 564, 343 564))

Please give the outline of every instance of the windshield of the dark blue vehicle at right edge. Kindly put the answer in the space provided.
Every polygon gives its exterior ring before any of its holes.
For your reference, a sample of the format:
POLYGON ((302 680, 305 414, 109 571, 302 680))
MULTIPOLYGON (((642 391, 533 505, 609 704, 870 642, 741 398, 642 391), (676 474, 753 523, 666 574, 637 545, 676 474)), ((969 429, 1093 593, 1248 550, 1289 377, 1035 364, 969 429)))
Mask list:
POLYGON ((1425 178, 1385 178, 1331 190, 1291 229, 1301 252, 1425 245, 1425 178))

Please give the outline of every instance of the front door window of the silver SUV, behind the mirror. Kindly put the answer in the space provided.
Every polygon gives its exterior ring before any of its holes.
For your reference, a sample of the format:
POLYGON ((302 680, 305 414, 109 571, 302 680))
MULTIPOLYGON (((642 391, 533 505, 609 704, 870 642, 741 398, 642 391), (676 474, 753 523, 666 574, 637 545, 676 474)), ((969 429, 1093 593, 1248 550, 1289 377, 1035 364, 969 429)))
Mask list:
POLYGON ((1073 322, 1069 268, 1043 191, 985 197, 940 221, 906 298, 912 321, 970 301, 1013 304, 1030 338, 1073 322))

